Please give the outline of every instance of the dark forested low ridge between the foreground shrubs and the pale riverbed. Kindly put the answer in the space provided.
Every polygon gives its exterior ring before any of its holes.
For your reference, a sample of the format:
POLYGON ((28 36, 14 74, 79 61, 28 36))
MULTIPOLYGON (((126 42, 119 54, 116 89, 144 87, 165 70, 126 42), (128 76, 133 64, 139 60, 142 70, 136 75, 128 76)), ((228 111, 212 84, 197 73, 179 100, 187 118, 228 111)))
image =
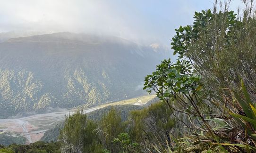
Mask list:
MULTIPOLYGON (((102 119, 102 116, 110 112, 111 108, 115 108, 115 110, 119 112, 122 121, 127 121, 130 111, 143 109, 143 106, 140 106, 140 105, 107 106, 99 110, 95 110, 93 112, 88 113, 87 118, 92 121, 100 121, 102 119)), ((41 141, 44 141, 44 142, 57 141, 60 135, 60 130, 63 129, 63 127, 64 127, 64 121, 61 122, 60 124, 57 124, 55 127, 47 130, 44 133, 43 137, 41 138, 41 141)))

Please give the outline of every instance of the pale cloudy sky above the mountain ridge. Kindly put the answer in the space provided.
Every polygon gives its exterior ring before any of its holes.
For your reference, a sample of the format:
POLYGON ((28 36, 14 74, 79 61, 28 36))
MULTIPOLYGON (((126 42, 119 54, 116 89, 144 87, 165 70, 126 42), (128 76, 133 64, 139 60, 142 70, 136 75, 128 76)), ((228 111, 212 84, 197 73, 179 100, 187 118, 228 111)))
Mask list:
MULTIPOLYGON (((0 32, 84 32, 141 44, 170 45, 174 29, 193 23, 214 0, 0 0, 0 32)), ((231 9, 242 6, 232 0, 231 9)))

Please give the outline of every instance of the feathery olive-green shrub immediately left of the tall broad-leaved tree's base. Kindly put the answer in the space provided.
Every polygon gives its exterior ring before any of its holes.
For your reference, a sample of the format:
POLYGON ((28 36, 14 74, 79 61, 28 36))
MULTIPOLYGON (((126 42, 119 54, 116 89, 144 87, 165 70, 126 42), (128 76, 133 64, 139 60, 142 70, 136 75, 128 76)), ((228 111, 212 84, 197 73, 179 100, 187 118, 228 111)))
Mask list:
POLYGON ((142 151, 154 146, 171 146, 174 141, 172 136, 177 136, 175 131, 176 121, 171 115, 171 110, 166 109, 167 104, 158 102, 130 113, 130 136, 140 145, 142 151))

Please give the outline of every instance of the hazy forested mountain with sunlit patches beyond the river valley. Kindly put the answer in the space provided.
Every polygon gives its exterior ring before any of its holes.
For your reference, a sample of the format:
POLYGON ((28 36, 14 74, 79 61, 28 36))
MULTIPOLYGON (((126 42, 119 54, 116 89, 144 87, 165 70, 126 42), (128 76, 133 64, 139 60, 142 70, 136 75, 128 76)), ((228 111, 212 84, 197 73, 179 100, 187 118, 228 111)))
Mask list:
POLYGON ((117 37, 53 33, 0 43, 0 118, 143 95, 166 56, 117 37))

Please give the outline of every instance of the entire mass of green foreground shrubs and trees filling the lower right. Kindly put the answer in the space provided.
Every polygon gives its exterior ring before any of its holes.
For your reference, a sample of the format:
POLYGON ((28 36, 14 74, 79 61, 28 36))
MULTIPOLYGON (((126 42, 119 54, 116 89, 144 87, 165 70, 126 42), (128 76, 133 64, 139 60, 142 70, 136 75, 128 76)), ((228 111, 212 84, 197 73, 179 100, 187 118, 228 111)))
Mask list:
POLYGON ((98 121, 69 116, 61 152, 256 152, 256 11, 253 0, 243 2, 242 16, 230 1, 216 1, 175 29, 177 61, 165 59, 145 77, 158 103, 131 111, 127 121, 114 108, 98 121))

